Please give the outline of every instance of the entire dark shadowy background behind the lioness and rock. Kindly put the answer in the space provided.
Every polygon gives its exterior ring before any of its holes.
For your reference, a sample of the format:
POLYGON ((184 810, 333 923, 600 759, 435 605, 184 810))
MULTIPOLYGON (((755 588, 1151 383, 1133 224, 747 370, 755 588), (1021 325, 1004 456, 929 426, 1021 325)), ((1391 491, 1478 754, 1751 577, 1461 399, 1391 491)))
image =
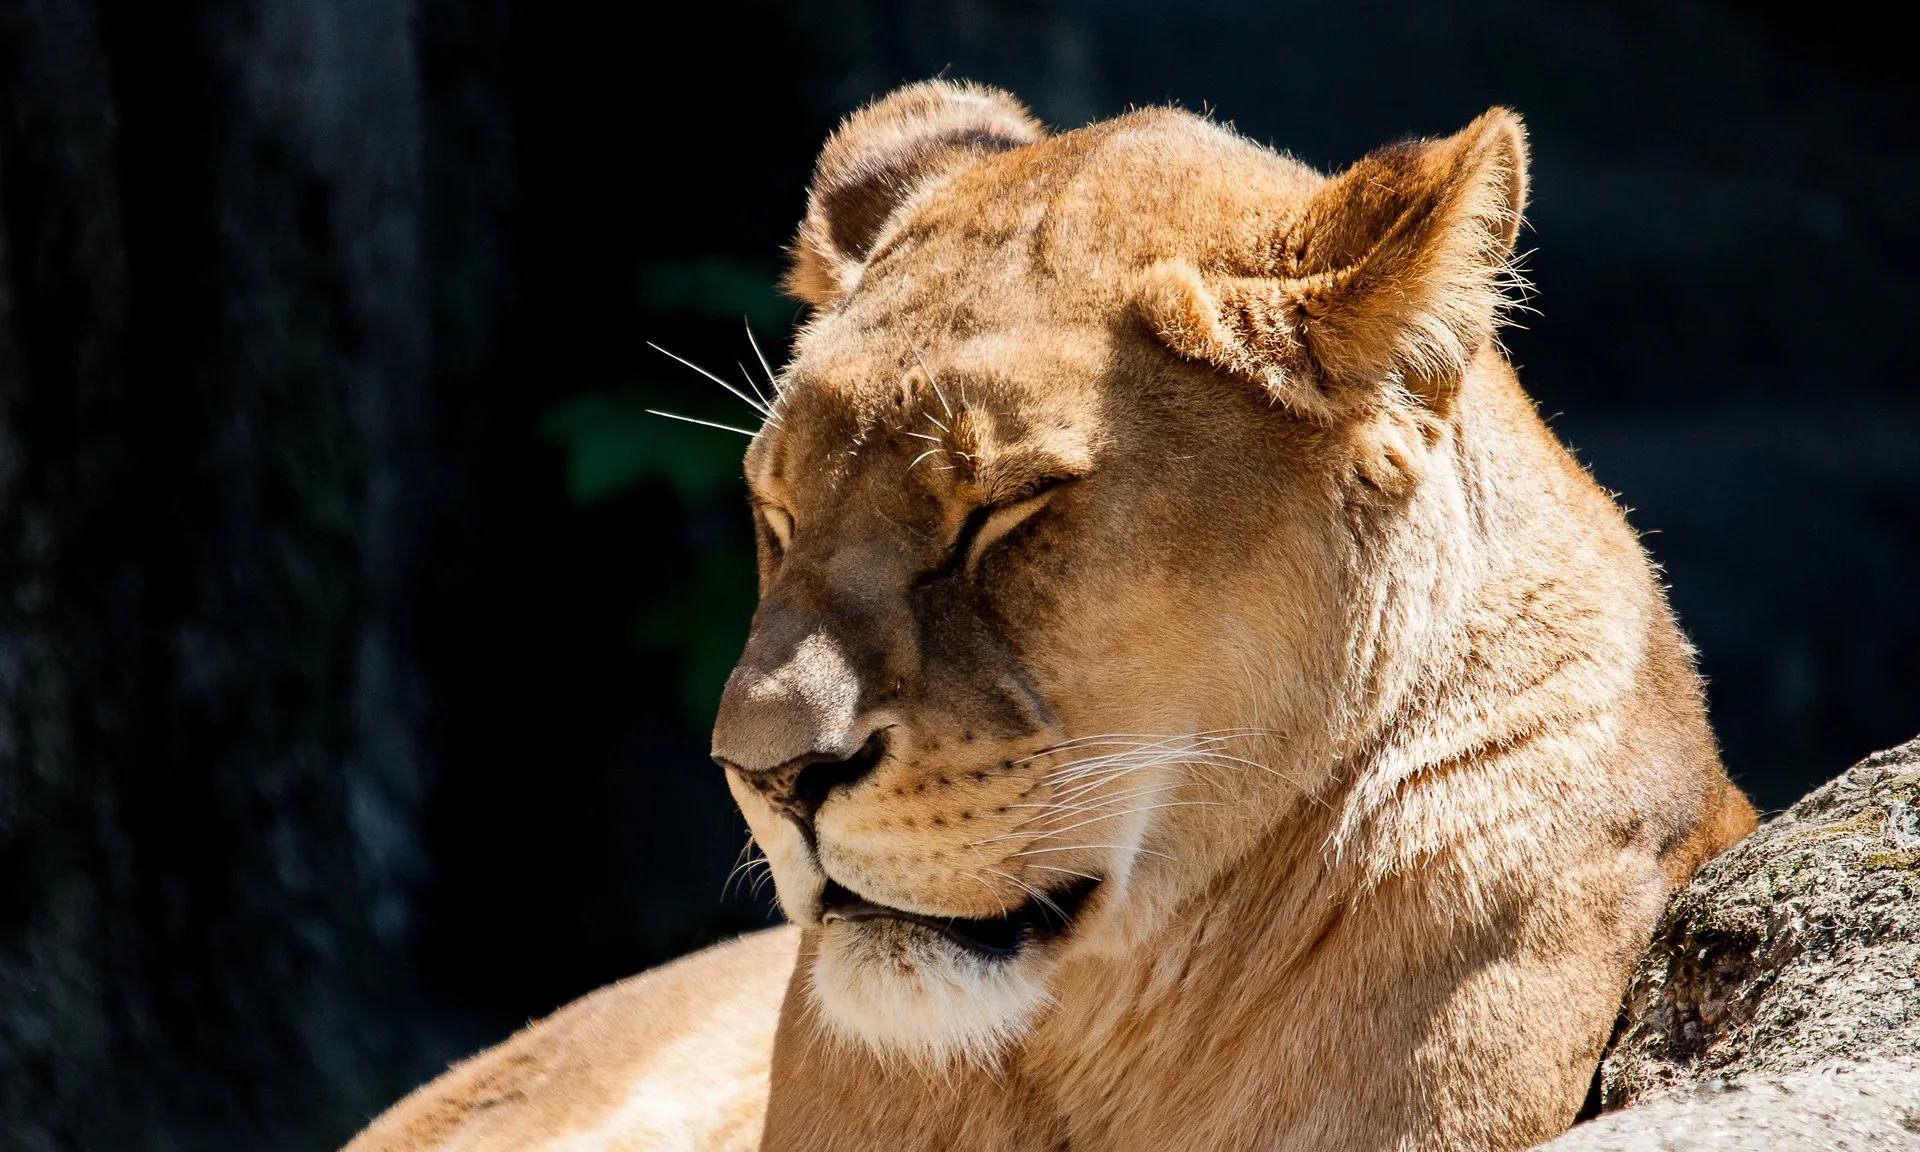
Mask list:
POLYGON ((1910 38, 1843 4, 0 0, 0 1148, 326 1148, 756 925, 716 371, 933 73, 1532 129, 1507 344, 1782 806, 1920 728, 1910 38))

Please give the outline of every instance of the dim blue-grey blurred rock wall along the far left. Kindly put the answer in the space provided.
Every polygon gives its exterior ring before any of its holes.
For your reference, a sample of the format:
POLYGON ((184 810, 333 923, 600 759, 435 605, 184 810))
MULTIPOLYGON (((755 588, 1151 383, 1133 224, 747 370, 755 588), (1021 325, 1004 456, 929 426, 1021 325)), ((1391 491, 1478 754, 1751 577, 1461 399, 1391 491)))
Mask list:
POLYGON ((313 1144, 430 1066, 424 23, 0 6, 6 1148, 313 1144))

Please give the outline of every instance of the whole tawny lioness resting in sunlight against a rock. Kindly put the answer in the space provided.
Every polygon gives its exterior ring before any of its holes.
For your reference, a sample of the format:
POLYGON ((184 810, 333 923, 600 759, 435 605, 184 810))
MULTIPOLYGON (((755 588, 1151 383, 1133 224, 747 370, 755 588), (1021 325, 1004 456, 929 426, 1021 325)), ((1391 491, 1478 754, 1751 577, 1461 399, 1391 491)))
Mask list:
POLYGON ((1323 177, 929 83, 820 156, 714 726, 797 927, 353 1148, 1524 1148, 1753 826, 1494 330, 1519 119, 1323 177), (791 977, 789 977, 791 973, 791 977))

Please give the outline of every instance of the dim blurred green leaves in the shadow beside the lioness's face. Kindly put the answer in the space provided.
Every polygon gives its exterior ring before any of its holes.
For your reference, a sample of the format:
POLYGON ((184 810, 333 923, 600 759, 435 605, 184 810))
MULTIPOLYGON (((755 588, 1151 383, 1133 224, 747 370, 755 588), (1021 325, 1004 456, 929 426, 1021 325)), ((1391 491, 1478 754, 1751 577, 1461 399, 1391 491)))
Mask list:
MULTIPOLYGON (((785 348, 793 323, 793 305, 780 296, 774 271, 730 259, 651 263, 641 269, 637 303, 649 321, 689 330, 712 332, 718 328, 712 321, 739 324, 745 319, 768 351, 785 348)), ((745 353, 741 359, 758 371, 745 348, 745 332, 737 340, 745 353)), ((643 361, 632 382, 582 392, 541 419, 541 434, 561 449, 568 497, 576 505, 593 505, 647 484, 664 484, 680 497, 689 524, 732 516, 745 528, 745 440, 647 409, 741 428, 751 428, 758 417, 701 380, 693 369, 653 351, 645 355, 653 361, 643 361)), ((722 365, 712 367, 733 378, 735 372, 724 367, 735 365, 722 365)), ((678 534, 685 540, 684 547, 662 541, 662 559, 672 557, 674 570, 664 591, 636 612, 632 634, 643 649, 674 660, 687 722, 705 728, 747 639, 756 591, 745 532, 691 530, 689 524, 682 524, 678 534)))

